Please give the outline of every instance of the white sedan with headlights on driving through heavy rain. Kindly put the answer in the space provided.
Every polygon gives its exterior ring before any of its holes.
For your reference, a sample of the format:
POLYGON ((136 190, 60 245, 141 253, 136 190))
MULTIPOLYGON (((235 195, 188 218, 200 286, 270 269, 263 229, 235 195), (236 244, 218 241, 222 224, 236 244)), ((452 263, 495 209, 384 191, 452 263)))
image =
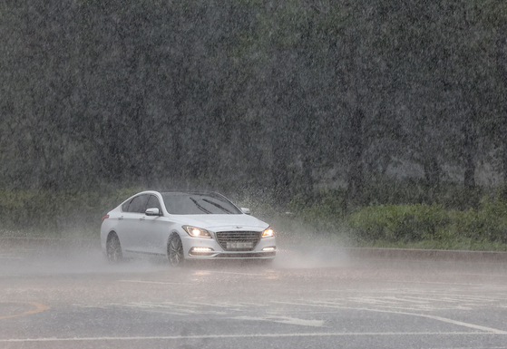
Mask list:
POLYGON ((265 259, 277 253, 269 225, 213 192, 143 191, 102 218, 102 252, 111 262, 141 255, 186 259, 265 259))

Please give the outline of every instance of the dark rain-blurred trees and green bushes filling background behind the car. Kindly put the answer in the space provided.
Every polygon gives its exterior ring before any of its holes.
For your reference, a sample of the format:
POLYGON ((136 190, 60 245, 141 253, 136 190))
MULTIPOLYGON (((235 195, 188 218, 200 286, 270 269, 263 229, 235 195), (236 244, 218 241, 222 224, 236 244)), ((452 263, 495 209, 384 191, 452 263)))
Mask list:
POLYGON ((0 33, 5 234, 93 236, 139 186, 357 246, 507 243, 505 1, 19 0, 0 33))

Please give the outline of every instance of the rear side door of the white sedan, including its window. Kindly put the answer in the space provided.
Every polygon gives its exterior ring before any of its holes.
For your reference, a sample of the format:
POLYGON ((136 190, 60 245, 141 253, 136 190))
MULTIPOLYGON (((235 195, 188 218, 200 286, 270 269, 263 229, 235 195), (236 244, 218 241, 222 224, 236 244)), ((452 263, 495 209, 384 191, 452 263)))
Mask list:
POLYGON ((122 221, 123 249, 127 253, 139 252, 142 240, 142 222, 144 221, 146 204, 150 199, 149 194, 141 194, 134 197, 129 205, 128 212, 124 212, 122 221))

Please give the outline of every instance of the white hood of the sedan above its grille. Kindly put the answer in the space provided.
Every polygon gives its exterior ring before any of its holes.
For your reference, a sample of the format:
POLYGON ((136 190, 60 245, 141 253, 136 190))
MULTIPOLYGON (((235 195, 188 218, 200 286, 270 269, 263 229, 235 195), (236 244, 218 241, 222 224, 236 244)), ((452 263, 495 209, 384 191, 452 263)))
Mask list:
POLYGON ((268 223, 249 215, 185 215, 178 218, 185 224, 215 231, 224 229, 263 230, 269 227, 268 223))

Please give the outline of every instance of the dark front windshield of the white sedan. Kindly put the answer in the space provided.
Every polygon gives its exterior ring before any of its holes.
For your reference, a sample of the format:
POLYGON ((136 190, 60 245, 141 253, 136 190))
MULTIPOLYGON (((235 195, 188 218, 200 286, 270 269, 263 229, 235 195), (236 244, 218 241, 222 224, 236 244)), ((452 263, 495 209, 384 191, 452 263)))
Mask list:
POLYGON ((165 208, 173 215, 241 214, 232 202, 216 193, 161 193, 165 208))

